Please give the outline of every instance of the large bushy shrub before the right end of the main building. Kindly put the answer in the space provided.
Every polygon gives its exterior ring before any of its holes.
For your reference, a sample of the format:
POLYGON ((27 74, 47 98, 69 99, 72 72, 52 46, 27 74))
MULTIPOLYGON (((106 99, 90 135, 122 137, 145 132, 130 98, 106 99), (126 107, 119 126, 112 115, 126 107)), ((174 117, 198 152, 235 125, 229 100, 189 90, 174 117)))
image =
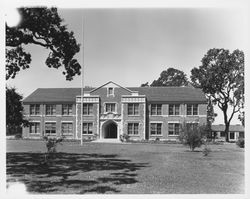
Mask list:
POLYGON ((183 129, 180 132, 179 140, 182 144, 188 145, 190 150, 194 151, 196 147, 200 147, 204 143, 204 137, 206 135, 204 126, 188 126, 184 124, 183 129))

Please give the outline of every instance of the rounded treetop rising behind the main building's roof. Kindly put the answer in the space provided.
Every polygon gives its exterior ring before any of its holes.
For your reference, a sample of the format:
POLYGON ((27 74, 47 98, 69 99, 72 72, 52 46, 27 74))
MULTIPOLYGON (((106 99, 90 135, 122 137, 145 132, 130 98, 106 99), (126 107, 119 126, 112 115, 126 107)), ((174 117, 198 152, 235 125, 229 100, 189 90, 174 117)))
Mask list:
POLYGON ((187 75, 175 68, 168 68, 161 72, 160 77, 150 86, 187 86, 187 75))

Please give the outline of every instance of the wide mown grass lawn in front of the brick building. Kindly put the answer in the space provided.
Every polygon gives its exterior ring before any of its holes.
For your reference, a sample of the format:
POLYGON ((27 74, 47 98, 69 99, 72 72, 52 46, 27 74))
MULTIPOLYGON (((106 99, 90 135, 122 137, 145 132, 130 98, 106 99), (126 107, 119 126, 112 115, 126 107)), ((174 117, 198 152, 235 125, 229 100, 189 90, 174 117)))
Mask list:
POLYGON ((7 186, 23 182, 46 194, 243 194, 244 149, 211 145, 64 142, 43 164, 43 141, 7 140, 7 186))

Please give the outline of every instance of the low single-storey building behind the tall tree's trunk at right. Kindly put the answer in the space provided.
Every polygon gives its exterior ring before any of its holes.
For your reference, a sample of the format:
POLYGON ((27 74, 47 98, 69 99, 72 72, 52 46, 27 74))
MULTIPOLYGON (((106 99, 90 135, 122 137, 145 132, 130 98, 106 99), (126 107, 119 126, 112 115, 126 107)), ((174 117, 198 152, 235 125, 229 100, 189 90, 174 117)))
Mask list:
MULTIPOLYGON (((217 140, 225 141, 225 125, 212 125, 213 137, 217 140)), ((229 142, 237 141, 239 137, 244 138, 244 127, 242 125, 230 125, 228 132, 229 142)))

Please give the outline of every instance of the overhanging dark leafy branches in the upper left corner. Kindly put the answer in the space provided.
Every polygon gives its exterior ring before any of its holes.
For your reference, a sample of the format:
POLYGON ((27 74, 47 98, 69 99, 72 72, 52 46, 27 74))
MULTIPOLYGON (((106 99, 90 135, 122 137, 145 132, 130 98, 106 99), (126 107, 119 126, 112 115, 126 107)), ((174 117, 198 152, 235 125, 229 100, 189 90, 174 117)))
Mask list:
POLYGON ((21 69, 30 67, 31 55, 24 46, 34 44, 48 49, 46 65, 51 68, 64 66, 66 80, 80 75, 80 64, 74 59, 79 52, 73 32, 68 32, 56 8, 19 8, 21 22, 16 27, 6 24, 6 79, 15 78, 21 69))

